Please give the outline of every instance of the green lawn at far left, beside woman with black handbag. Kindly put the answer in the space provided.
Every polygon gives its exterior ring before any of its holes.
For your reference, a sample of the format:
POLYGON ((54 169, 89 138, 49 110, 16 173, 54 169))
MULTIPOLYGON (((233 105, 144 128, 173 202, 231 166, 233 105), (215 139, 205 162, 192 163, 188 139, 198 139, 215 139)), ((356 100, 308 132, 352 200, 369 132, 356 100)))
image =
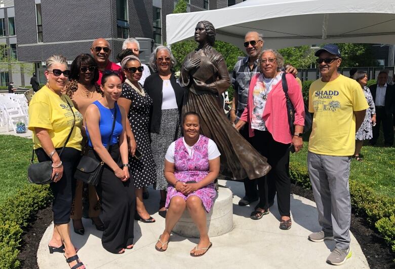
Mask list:
POLYGON ((13 135, 0 135, 0 204, 13 196, 27 181, 30 163, 31 139, 13 135))

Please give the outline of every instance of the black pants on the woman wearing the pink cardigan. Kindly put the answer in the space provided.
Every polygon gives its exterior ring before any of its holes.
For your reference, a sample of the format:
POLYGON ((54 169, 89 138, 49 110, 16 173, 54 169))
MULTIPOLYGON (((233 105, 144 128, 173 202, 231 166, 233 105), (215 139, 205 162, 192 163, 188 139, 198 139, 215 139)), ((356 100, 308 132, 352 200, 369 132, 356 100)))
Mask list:
POLYGON ((277 193, 277 204, 281 216, 290 216, 291 179, 288 177, 289 146, 274 141, 268 131, 254 130, 255 136, 252 145, 267 158, 271 166, 270 172, 258 178, 259 204, 262 209, 268 210, 274 203, 277 193))

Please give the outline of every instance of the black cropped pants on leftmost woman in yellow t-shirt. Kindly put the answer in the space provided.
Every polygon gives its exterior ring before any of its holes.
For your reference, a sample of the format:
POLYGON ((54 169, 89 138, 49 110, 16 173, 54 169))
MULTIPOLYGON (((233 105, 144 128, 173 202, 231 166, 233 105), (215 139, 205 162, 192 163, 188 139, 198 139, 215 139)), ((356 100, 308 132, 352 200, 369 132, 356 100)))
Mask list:
MULTIPOLYGON (((57 148, 60 153, 62 148, 57 148)), ((38 162, 50 161, 43 148, 35 150, 38 162)), ((75 194, 74 172, 81 158, 81 151, 71 147, 65 147, 60 157, 63 164, 63 176, 58 182, 50 183, 54 201, 52 202, 52 212, 55 224, 65 224, 70 222, 71 204, 75 194)))

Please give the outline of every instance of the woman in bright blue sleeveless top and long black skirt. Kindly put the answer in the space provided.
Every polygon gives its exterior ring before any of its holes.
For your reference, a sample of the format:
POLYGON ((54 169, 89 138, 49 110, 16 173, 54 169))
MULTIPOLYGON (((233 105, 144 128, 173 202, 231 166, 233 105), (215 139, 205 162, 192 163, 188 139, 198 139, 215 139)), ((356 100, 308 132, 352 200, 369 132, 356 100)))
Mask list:
POLYGON ((111 253, 124 253, 125 249, 133 248, 136 197, 134 184, 129 179, 126 113, 116 104, 122 93, 122 82, 116 73, 105 73, 100 87, 103 97, 89 105, 85 112, 88 156, 105 163, 96 186, 105 226, 102 245, 111 253))

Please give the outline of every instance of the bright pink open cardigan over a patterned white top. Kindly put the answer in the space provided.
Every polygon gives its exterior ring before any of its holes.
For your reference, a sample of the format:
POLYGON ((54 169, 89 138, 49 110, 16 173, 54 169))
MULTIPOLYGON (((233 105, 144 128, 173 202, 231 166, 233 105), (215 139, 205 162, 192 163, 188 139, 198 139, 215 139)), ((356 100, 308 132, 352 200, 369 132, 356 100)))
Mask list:
MULTIPOLYGON (((253 92, 260 73, 253 76, 248 90, 248 103, 243 111, 240 120, 248 122, 250 137, 254 136, 254 129, 251 128, 253 92), (251 108, 251 109, 250 109, 251 108)), ((304 126, 304 103, 300 86, 292 74, 286 74, 288 84, 288 96, 295 108, 295 125, 304 126)), ((277 142, 289 144, 292 141, 289 129, 287 104, 283 91, 282 81, 273 86, 269 94, 262 118, 265 121, 266 129, 277 142)))

